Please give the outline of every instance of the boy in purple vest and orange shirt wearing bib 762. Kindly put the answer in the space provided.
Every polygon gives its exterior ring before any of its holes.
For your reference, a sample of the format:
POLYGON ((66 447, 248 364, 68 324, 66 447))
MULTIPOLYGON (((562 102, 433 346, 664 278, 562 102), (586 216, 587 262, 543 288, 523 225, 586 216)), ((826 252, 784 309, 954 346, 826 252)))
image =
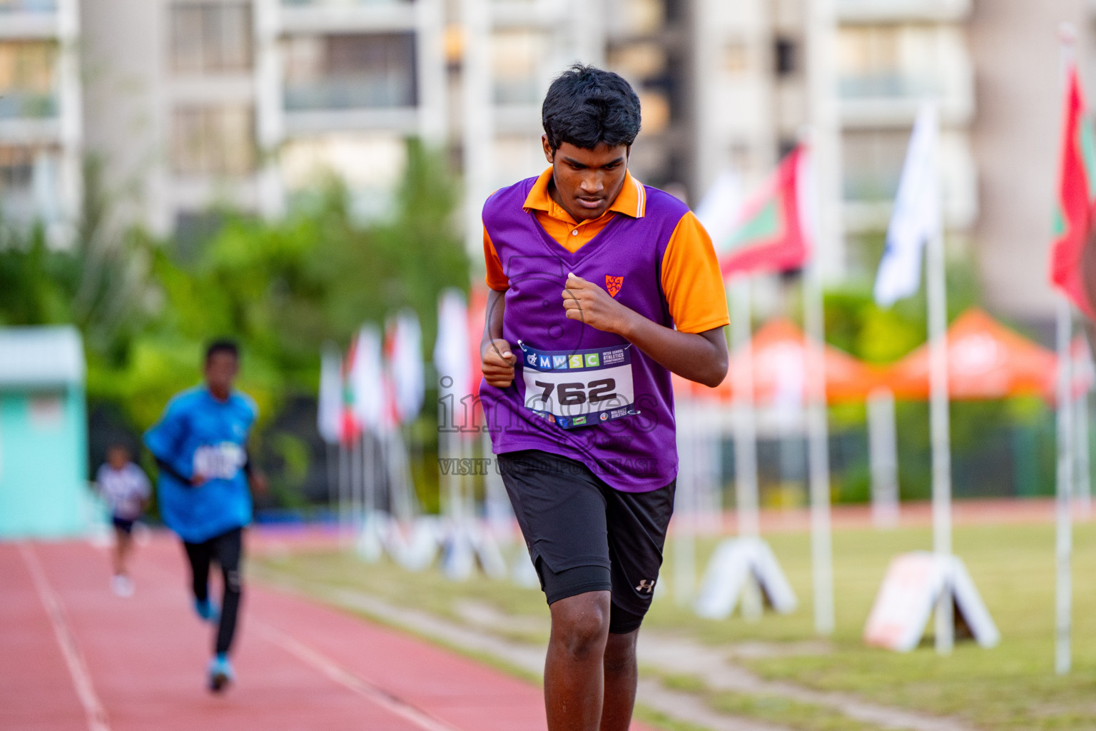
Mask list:
POLYGON ((670 374, 722 381, 727 304, 697 218, 628 172, 631 87, 576 65, 543 119, 551 167, 483 207, 480 398, 551 612, 548 728, 626 731, 673 511, 670 374))

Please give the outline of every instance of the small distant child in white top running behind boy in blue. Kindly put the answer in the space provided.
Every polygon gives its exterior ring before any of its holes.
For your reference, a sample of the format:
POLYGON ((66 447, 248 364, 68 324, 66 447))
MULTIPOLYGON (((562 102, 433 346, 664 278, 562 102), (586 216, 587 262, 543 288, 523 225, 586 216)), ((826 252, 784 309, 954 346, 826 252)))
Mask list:
POLYGON ((126 563, 133 549, 134 523, 140 517, 151 494, 148 477, 130 461, 129 449, 114 444, 106 450, 106 461, 95 472, 95 484, 111 509, 111 523, 114 524, 111 589, 118 596, 129 596, 134 593, 134 583, 126 563))

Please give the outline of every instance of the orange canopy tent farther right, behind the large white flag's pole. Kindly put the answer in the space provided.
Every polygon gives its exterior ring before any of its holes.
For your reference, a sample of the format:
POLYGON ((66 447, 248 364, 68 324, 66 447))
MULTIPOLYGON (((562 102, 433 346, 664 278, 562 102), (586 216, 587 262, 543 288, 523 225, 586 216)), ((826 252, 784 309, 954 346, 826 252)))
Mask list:
MULTIPOLYGON (((980 309, 959 316, 947 332, 952 399, 1003 399, 1053 393, 1054 354, 980 309)), ((910 353, 883 379, 900 399, 928 398, 928 344, 910 353)))

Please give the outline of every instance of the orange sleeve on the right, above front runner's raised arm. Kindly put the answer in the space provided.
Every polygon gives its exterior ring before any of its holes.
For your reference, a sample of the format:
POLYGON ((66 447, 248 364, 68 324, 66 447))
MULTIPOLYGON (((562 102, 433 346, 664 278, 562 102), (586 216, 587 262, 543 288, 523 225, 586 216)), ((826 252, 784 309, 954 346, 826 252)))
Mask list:
POLYGON ((662 255, 662 292, 681 332, 705 332, 730 322, 711 237, 693 212, 677 221, 662 255))

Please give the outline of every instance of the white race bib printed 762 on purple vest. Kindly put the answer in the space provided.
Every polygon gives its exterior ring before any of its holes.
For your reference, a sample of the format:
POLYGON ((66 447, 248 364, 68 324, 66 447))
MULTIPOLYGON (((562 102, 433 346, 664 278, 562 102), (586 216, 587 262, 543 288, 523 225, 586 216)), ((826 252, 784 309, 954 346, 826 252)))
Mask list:
POLYGON ((638 411, 632 403, 630 345, 583 351, 522 346, 525 406, 562 426, 589 426, 638 411))

